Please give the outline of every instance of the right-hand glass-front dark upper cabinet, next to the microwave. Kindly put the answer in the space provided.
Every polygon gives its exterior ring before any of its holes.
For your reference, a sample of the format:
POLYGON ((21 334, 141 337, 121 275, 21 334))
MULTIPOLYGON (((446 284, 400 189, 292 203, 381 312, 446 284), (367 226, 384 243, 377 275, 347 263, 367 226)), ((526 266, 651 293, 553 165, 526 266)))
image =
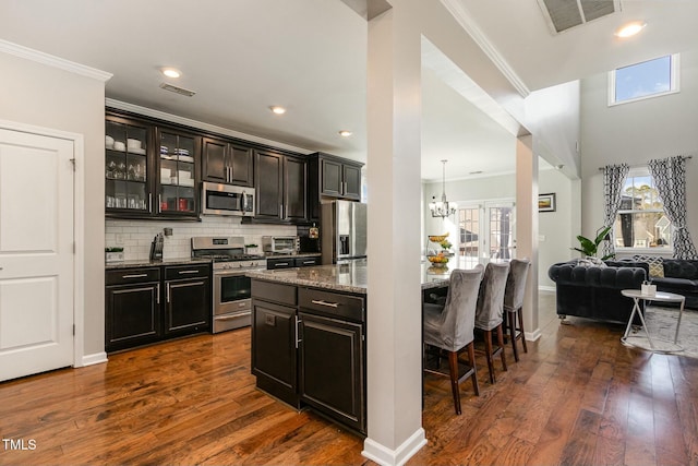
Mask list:
POLYGON ((201 138, 160 129, 157 212, 192 216, 197 213, 196 160, 201 138))

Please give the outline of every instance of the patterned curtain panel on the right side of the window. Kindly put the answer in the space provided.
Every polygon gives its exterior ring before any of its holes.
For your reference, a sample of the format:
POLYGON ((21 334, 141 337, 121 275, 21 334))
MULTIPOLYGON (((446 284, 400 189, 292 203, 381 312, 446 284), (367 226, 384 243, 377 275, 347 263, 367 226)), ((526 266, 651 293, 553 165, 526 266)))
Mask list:
POLYGON ((674 258, 698 259, 696 247, 686 226, 686 157, 676 156, 648 163, 654 178, 664 213, 674 227, 672 242, 674 258))

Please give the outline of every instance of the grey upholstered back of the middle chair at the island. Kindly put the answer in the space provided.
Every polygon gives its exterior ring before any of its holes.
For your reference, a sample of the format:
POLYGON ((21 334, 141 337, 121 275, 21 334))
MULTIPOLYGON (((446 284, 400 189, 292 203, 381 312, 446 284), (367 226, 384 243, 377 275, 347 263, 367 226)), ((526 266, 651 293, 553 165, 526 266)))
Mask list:
POLYGON ((504 291, 509 274, 509 263, 490 262, 484 270, 484 276, 480 283, 478 294, 478 307, 476 310, 476 327, 492 330, 502 323, 504 312, 504 291))

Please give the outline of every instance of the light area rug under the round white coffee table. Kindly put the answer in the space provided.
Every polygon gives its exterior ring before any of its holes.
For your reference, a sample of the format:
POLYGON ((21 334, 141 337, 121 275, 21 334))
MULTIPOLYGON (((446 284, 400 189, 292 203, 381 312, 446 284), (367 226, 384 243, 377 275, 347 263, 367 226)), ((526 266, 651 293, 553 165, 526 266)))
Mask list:
MULTIPOLYGON (((698 358, 698 311, 684 310, 678 330, 678 347, 673 345, 678 320, 678 309, 649 306, 645 310, 645 322, 649 330, 654 349, 663 353, 698 358)), ((649 340, 641 327, 633 327, 627 342, 646 349, 649 340)))

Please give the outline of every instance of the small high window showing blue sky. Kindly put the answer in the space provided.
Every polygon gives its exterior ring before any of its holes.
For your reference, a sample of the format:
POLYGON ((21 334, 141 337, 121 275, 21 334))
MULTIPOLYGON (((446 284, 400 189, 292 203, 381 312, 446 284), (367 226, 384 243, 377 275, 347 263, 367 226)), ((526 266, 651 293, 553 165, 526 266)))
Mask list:
POLYGON ((678 92, 678 53, 618 68, 609 73, 609 105, 678 92))

